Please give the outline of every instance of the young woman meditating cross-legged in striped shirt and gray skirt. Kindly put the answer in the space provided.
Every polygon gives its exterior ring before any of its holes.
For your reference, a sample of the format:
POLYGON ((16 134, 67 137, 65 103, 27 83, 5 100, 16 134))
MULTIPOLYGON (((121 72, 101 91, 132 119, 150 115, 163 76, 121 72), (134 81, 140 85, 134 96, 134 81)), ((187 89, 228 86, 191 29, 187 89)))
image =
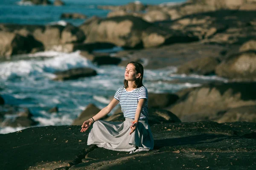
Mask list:
POLYGON ((154 139, 148 125, 148 91, 143 86, 143 65, 129 62, 125 68, 124 86, 116 91, 113 100, 81 126, 90 126, 87 144, 130 153, 152 150, 154 139), (125 122, 99 120, 120 102, 125 122))

